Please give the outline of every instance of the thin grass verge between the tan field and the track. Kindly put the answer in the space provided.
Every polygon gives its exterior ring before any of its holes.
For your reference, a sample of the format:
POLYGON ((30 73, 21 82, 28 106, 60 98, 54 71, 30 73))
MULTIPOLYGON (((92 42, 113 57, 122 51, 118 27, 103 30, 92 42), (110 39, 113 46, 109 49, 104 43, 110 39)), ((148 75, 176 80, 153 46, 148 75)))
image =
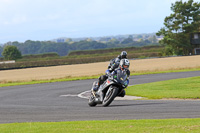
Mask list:
MULTIPOLYGON (((172 72, 187 72, 187 71, 200 71, 200 68, 188 68, 179 70, 167 70, 167 71, 143 71, 143 72, 131 72, 131 76, 134 75, 145 75, 145 74, 159 74, 159 73, 172 73, 172 72)), ((32 80, 32 81, 0 81, 0 87, 16 86, 16 85, 30 85, 30 84, 41 84, 41 83, 53 83, 73 80, 86 80, 86 79, 97 79, 100 75, 95 76, 84 76, 84 77, 65 77, 60 79, 50 80, 32 80)))

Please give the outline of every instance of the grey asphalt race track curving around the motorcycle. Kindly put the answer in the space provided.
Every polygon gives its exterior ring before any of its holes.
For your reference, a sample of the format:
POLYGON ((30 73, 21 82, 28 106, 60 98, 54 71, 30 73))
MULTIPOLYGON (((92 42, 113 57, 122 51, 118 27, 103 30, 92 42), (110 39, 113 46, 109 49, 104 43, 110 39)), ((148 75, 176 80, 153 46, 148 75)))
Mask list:
MULTIPOLYGON (((199 76, 200 71, 130 77, 130 85, 199 76)), ((0 88, 0 123, 77 120, 200 118, 199 100, 115 100, 89 107, 78 94, 94 80, 0 88)))

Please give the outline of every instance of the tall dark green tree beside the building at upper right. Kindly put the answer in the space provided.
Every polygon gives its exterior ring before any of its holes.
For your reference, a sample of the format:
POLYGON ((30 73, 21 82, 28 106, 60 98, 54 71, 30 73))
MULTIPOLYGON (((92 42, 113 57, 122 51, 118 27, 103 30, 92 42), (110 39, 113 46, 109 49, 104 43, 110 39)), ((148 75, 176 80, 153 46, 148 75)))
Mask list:
POLYGON ((165 27, 157 33, 164 36, 160 43, 171 48, 173 54, 188 55, 192 51, 190 33, 200 27, 200 3, 180 0, 172 4, 171 10, 173 13, 164 20, 165 27))

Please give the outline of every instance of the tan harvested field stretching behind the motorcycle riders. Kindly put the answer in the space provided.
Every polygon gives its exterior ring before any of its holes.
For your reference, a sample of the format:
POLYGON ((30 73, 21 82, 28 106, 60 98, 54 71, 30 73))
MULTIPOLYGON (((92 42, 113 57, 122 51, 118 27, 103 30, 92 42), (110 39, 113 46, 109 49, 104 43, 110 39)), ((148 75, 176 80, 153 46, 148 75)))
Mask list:
MULTIPOLYGON (((184 68, 199 68, 200 56, 183 56, 155 59, 130 60, 130 71, 163 71, 184 68)), ((0 82, 30 81, 64 77, 92 76, 103 74, 109 62, 63 65, 0 71, 0 82)))

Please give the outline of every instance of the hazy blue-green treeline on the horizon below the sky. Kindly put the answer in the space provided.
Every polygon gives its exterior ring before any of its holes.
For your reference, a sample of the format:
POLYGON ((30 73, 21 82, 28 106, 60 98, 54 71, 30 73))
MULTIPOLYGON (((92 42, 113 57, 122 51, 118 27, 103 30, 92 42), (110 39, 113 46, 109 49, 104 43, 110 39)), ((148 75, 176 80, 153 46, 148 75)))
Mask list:
MULTIPOLYGON (((92 49, 105 49, 105 48, 117 48, 117 47, 135 47, 135 46, 146 46, 150 45, 151 42, 148 40, 144 41, 133 41, 129 38, 126 40, 119 41, 109 41, 106 43, 97 42, 93 40, 83 40, 79 42, 51 42, 51 41, 31 41, 27 40, 24 43, 20 42, 9 42, 6 45, 16 46, 22 55, 33 55, 33 54, 43 54, 55 52, 59 56, 66 56, 70 51, 77 50, 92 50, 92 49)), ((3 51, 3 46, 0 46, 0 53, 3 51)), ((2 56, 2 55, 0 55, 2 56)))

